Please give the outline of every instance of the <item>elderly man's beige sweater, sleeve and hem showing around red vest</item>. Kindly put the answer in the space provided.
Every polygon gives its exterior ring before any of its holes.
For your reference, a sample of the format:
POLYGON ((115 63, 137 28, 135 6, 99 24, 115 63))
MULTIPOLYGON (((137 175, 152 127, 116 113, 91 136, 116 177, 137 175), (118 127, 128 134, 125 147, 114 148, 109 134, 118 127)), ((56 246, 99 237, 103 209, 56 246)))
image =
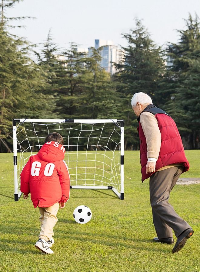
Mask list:
MULTIPOLYGON (((158 160, 160 146, 161 146, 161 134, 158 127, 158 121, 150 112, 142 112, 140 115, 140 123, 145 134, 147 142, 147 159, 155 158, 158 160)), ((182 164, 170 164, 164 166, 157 171, 164 170, 173 166, 182 166, 182 164)))

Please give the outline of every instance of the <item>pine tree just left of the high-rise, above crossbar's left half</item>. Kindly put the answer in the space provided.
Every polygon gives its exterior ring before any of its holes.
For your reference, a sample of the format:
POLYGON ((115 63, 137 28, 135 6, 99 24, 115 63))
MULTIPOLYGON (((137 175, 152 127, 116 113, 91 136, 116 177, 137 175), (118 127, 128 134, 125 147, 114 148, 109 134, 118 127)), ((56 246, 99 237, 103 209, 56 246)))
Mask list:
POLYGON ((57 106, 63 118, 80 119, 84 115, 83 107, 85 84, 85 53, 78 52, 77 44, 60 54, 62 70, 57 88, 57 106))

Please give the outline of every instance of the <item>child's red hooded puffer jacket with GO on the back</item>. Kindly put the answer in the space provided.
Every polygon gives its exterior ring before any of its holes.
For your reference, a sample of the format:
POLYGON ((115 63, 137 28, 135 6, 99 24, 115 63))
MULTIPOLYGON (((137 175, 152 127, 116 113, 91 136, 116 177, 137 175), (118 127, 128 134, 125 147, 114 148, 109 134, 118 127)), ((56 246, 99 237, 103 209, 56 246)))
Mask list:
POLYGON ((29 158, 22 170, 21 192, 31 193, 33 206, 50 207, 56 202, 67 202, 70 176, 63 160, 65 148, 57 142, 45 143, 38 154, 29 158))

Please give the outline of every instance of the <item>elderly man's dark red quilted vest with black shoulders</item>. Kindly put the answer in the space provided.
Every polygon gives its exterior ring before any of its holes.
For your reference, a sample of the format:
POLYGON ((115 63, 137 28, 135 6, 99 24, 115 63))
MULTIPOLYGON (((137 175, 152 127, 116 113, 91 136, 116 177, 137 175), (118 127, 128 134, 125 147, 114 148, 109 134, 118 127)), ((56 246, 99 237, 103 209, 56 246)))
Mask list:
MULTIPOLYGON (((169 164, 183 164, 183 172, 188 171, 189 163, 185 157, 181 136, 178 132, 175 121, 166 112, 154 105, 148 105, 143 112, 151 112, 155 115, 161 133, 161 148, 158 160, 155 165, 155 170, 157 171, 161 167, 167 166, 169 164)), ((138 132, 140 138, 140 164, 142 167, 141 172, 143 182, 145 179, 148 179, 154 172, 146 174, 147 143, 139 118, 138 122, 138 132)))

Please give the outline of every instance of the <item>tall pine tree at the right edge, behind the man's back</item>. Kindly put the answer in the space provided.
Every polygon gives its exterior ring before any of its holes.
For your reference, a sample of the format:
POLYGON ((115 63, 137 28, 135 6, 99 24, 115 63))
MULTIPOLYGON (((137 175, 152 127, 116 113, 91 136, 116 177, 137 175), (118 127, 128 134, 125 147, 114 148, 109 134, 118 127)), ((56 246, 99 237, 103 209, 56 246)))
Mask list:
POLYGON ((187 148, 199 148, 199 18, 189 15, 186 29, 179 30, 179 42, 169 44, 168 66, 158 94, 165 109, 176 121, 187 148))

